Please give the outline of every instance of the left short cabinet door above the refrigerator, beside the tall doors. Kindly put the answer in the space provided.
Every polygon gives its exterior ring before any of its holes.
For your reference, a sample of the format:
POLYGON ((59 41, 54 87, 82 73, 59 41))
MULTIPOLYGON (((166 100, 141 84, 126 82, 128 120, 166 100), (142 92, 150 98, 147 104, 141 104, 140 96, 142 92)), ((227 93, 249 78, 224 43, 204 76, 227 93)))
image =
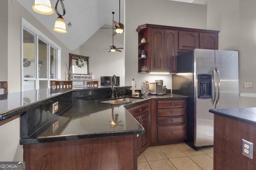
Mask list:
POLYGON ((179 31, 179 50, 189 51, 199 48, 199 35, 197 32, 179 31))

